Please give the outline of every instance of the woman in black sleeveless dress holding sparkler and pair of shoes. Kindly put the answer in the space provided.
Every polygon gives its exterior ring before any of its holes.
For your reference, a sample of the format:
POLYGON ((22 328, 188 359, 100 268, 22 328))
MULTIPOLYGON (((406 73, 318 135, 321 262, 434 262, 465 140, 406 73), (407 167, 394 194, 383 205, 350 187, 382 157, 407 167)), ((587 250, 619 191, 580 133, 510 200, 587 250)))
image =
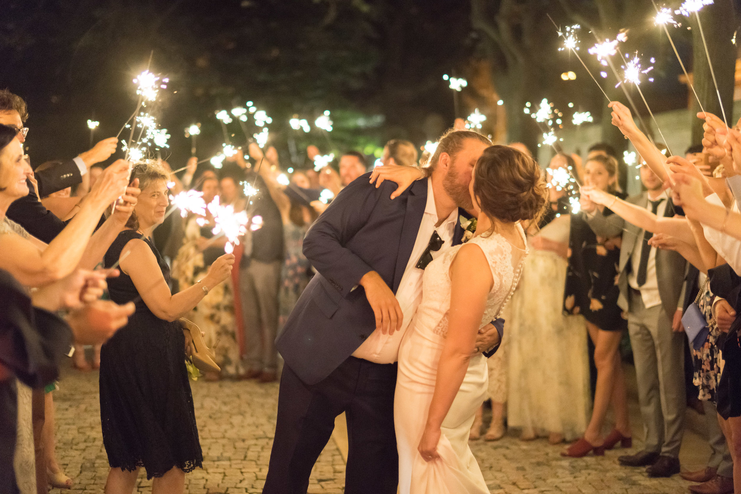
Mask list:
MULTIPOLYGON (((178 320, 230 276, 234 256, 217 258, 201 281, 172 295, 170 270, 150 239, 165 218, 167 174, 138 164, 131 178, 142 190, 139 202, 104 258, 108 267, 120 262, 121 276, 108 284, 110 298, 136 303, 135 315, 101 351, 100 410, 110 464, 105 492, 130 494, 144 467, 147 478, 155 478, 153 493, 182 493, 185 473, 200 467, 203 455, 185 367, 193 332, 186 337, 178 320)), ((200 336, 196 331, 196 352, 210 360, 200 336)))

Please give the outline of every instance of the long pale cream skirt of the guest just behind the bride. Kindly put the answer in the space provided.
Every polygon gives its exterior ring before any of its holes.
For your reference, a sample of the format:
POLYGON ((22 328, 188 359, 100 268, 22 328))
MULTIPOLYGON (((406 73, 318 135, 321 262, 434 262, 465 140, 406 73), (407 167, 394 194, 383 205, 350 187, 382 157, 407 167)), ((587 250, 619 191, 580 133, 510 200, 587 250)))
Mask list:
POLYGON ((581 437, 591 409, 587 330, 582 316, 564 316, 567 262, 535 250, 525 260, 505 323, 510 427, 539 435, 581 437))

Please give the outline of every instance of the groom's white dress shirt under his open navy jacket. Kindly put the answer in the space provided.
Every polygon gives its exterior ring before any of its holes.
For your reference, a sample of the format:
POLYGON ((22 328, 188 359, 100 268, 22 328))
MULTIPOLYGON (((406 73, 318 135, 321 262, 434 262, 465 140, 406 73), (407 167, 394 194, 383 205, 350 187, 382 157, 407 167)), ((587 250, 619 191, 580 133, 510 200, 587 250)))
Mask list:
POLYGON ((399 345, 402 343, 404 333, 406 333, 407 327, 422 301, 422 275, 425 271, 415 266, 422 253, 427 249, 434 231, 437 231, 444 244, 439 250, 431 251, 433 259, 442 256, 446 250, 452 247, 453 233, 458 221, 458 208, 456 207, 439 227, 435 227, 438 221, 435 196, 432 191, 432 178, 428 178, 425 214, 422 216, 422 223, 419 224, 414 248, 411 256, 409 256, 402 281, 399 283, 399 289, 396 290, 396 300, 399 301, 399 307, 404 314, 402 327, 391 335, 374 330, 371 336, 368 336, 363 344, 355 350, 353 357, 363 358, 376 364, 393 364, 399 358, 399 345))

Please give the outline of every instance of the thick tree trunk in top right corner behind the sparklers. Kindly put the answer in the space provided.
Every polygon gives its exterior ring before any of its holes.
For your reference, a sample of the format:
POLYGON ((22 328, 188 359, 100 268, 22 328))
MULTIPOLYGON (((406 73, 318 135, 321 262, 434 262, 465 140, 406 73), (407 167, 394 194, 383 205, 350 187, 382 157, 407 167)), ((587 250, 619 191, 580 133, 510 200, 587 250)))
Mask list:
MULTIPOLYGON (((706 112, 714 113, 721 119, 722 111, 718 93, 713 84, 708 57, 705 55, 705 47, 702 44, 700 28, 697 25, 697 17, 691 14, 689 24, 692 27, 692 79, 697 96, 702 102, 706 112)), ((718 82, 720 99, 723 101, 723 110, 728 120, 728 125, 736 124, 733 120, 734 86, 736 73, 737 49, 731 42, 736 29, 736 16, 731 0, 716 0, 714 4, 706 5, 700 10, 700 21, 702 21, 702 32, 705 33, 705 41, 708 42, 708 53, 715 70, 715 78, 718 82)), ((693 95, 694 96, 694 95, 693 95)), ((692 99, 690 112, 692 113, 692 144, 702 143, 701 119, 694 118, 694 114, 700 111, 700 107, 692 99)))

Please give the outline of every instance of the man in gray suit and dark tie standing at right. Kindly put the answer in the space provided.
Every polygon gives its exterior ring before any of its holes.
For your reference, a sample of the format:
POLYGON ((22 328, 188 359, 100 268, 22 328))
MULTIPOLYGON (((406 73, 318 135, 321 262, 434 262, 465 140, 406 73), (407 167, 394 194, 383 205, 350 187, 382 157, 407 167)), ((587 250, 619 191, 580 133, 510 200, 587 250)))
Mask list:
POLYGON ((649 246, 651 232, 619 218, 634 206, 657 216, 674 216, 671 198, 662 191, 659 178, 645 164, 640 174, 647 192, 614 201, 610 206, 614 215, 603 216, 588 208, 593 212, 586 216, 597 236, 622 233, 617 303, 628 314, 645 444, 644 450, 620 456, 618 461, 628 467, 648 467, 649 477, 669 477, 679 473, 687 406, 681 305, 686 261, 679 253, 649 246))

